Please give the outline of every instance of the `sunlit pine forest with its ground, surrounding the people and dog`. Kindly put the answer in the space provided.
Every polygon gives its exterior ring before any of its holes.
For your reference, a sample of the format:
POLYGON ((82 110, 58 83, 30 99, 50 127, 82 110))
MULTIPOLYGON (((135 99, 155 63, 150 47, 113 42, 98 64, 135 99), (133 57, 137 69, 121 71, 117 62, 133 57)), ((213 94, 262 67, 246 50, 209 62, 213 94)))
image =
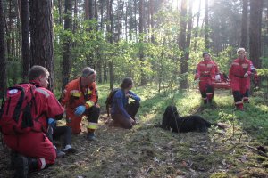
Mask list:
MULTIPOLYGON (((85 128, 72 138, 76 154, 29 177, 268 177, 266 0, 0 0, 1 101, 33 65, 49 70, 58 98, 81 69, 95 69, 101 116, 96 142, 85 141, 85 128), (250 102, 235 110, 231 91, 217 89, 214 108, 204 106, 194 80, 202 54, 228 75, 240 47, 258 74, 250 102), (131 130, 111 127, 105 113, 124 77, 141 97, 131 130), (168 105, 229 127, 207 134, 154 127, 168 105)), ((3 177, 13 175, 9 151, 0 145, 3 177)))

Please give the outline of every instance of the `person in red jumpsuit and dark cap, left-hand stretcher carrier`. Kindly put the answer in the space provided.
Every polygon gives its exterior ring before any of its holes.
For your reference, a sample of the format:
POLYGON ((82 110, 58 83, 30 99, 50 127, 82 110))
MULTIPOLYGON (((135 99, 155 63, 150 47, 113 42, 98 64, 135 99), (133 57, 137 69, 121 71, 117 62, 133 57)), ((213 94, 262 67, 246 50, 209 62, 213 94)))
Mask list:
POLYGON ((211 104, 214 97, 215 67, 214 62, 211 61, 209 53, 204 52, 203 59, 203 61, 200 61, 197 64, 195 80, 200 80, 199 91, 201 93, 204 104, 207 102, 211 104))

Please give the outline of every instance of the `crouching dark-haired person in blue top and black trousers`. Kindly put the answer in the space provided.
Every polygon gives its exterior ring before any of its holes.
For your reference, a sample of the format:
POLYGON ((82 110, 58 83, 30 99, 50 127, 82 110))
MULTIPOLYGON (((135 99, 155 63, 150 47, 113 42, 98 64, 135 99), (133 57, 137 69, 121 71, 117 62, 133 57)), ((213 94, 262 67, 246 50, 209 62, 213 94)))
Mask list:
POLYGON ((138 95, 130 91, 132 86, 132 78, 126 77, 122 80, 121 89, 113 96, 111 109, 114 125, 119 125, 126 129, 130 129, 136 124, 137 119, 135 116, 138 112, 140 101, 138 95), (130 98, 134 101, 129 103, 130 98))

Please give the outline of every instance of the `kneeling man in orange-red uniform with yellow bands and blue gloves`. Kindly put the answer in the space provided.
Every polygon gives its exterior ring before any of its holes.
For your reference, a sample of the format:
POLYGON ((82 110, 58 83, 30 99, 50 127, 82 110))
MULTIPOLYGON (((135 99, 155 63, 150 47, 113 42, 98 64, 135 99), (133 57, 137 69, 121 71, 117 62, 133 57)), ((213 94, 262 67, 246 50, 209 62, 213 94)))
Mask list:
POLYGON ((66 122, 73 134, 80 134, 83 116, 88 118, 89 141, 96 140, 95 130, 100 114, 96 91, 96 71, 89 67, 82 69, 81 77, 65 86, 61 103, 66 108, 66 122))

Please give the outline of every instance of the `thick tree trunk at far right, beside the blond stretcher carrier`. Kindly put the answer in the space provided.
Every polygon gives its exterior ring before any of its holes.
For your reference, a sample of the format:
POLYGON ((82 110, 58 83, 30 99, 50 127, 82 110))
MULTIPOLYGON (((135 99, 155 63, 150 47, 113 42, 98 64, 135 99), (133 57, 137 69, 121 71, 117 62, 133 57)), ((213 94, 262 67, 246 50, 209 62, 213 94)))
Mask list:
POLYGON ((263 0, 250 0, 249 51, 250 59, 256 68, 262 67, 260 56, 263 3, 263 0))

